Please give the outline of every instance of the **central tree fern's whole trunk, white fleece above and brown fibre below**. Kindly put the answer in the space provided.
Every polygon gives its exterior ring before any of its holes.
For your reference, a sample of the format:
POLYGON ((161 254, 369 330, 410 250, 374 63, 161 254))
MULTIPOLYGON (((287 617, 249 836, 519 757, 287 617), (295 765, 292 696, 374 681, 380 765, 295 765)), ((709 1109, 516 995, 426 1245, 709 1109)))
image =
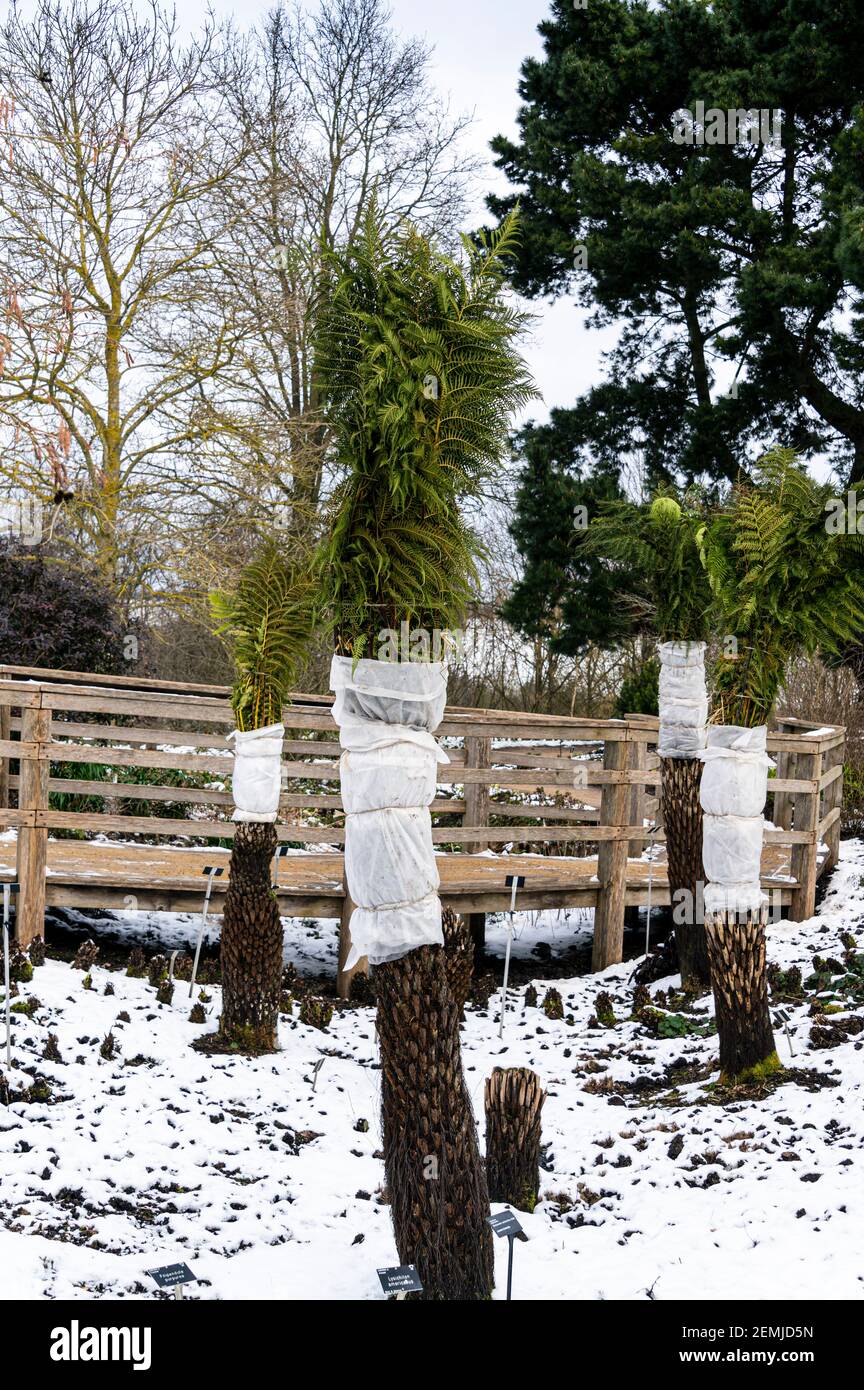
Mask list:
POLYGON ((445 667, 336 656, 349 966, 375 966, 383 1156, 396 1248, 425 1300, 488 1300, 486 1173, 463 1074, 461 999, 443 947, 429 806, 445 667))

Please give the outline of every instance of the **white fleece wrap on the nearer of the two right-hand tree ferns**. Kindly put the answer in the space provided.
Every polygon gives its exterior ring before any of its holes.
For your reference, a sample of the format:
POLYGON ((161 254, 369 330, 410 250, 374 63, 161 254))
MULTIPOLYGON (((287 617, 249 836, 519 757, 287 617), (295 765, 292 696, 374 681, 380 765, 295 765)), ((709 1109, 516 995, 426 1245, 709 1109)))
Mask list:
POLYGON ((711 724, 700 753, 706 917, 761 913, 763 810, 768 795, 767 726, 711 724))

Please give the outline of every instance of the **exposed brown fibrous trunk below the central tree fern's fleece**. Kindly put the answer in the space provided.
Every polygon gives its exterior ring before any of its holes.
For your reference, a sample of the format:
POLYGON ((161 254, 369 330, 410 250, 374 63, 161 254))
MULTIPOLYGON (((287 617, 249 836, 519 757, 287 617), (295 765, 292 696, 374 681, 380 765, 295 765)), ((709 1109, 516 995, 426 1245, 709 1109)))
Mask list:
POLYGON ((440 947, 374 972, 385 1175, 396 1248, 425 1300, 492 1295, 489 1195, 440 947))

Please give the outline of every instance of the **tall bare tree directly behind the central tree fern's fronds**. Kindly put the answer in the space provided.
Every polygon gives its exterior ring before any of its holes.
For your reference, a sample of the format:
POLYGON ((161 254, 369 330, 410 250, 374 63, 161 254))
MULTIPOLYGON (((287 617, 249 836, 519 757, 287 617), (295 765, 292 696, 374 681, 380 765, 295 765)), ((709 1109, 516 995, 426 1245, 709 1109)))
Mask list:
MULTIPOLYGON (((253 156, 219 185, 242 227, 217 245, 226 296, 244 324, 229 377, 256 448, 246 477, 294 537, 308 537, 326 482, 326 431, 310 343, 322 259, 356 238, 372 195, 385 221, 411 217, 453 235, 472 160, 431 89, 429 49, 396 38, 383 0, 278 4, 235 35, 221 95, 253 156)), ((239 136, 238 136, 239 138, 239 136)), ((272 524, 272 514, 271 514, 272 524)))

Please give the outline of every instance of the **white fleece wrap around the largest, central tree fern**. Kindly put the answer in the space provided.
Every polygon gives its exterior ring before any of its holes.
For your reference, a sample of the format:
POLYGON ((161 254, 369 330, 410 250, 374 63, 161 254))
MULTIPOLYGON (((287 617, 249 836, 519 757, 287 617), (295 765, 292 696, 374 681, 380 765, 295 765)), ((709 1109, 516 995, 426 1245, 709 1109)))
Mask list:
POLYGON ((354 902, 346 969, 397 960, 443 945, 429 806, 438 764, 432 737, 447 703, 443 662, 397 663, 335 656, 344 876, 354 902))

